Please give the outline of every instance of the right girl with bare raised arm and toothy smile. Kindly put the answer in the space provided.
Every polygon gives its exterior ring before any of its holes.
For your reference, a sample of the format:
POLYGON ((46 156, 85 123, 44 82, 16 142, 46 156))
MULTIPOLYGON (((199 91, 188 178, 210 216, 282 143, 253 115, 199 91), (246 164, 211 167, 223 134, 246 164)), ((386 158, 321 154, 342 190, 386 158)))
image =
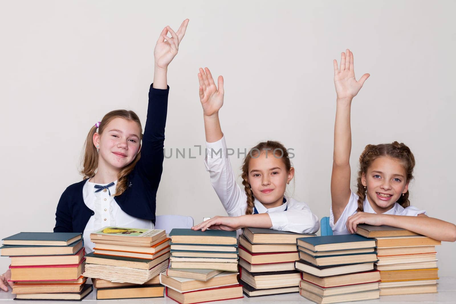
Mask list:
POLYGON ((353 70, 353 53, 341 55, 340 67, 334 60, 337 93, 334 126, 334 160, 331 177, 332 208, 330 226, 334 234, 356 232, 358 224, 404 228, 440 241, 454 242, 456 226, 426 216, 426 211, 409 206, 409 182, 415 158, 403 143, 368 144, 359 157, 358 191, 350 190, 350 108, 369 74, 359 81, 353 70))

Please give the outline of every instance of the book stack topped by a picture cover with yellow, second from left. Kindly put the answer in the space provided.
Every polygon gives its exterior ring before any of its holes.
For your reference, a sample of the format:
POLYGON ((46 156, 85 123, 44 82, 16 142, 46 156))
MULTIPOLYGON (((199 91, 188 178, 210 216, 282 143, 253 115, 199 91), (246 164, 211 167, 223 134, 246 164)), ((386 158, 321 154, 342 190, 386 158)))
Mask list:
POLYGON ((95 247, 83 275, 92 278, 97 299, 163 297, 158 276, 170 258, 165 230, 104 227, 90 239, 95 247))

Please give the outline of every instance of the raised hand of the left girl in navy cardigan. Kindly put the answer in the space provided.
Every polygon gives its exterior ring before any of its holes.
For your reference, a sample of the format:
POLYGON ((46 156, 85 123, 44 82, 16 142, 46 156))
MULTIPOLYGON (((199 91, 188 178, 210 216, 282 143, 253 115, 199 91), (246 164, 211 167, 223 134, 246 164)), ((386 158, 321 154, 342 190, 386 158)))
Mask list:
POLYGON ((179 43, 187 30, 188 19, 184 20, 179 29, 174 32, 170 26, 166 26, 161 31, 157 44, 154 49, 155 66, 166 69, 173 58, 177 55, 179 43), (168 32, 171 38, 167 36, 168 32))

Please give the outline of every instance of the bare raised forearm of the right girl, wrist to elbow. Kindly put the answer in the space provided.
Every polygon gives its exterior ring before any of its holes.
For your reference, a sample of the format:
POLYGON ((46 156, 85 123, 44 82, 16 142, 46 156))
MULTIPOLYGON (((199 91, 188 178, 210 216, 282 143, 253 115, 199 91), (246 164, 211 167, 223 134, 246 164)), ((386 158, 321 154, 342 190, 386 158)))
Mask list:
POLYGON ((337 99, 336 122, 334 124, 334 165, 349 164, 352 149, 351 103, 351 99, 337 99))

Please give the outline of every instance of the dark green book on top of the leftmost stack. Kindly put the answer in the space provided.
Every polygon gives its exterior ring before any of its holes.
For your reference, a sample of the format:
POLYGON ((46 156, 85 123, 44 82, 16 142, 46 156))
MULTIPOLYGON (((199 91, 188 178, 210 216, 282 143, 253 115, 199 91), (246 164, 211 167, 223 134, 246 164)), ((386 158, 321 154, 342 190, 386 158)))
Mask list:
POLYGON ((2 241, 3 245, 68 246, 81 238, 77 232, 20 232, 2 241))

